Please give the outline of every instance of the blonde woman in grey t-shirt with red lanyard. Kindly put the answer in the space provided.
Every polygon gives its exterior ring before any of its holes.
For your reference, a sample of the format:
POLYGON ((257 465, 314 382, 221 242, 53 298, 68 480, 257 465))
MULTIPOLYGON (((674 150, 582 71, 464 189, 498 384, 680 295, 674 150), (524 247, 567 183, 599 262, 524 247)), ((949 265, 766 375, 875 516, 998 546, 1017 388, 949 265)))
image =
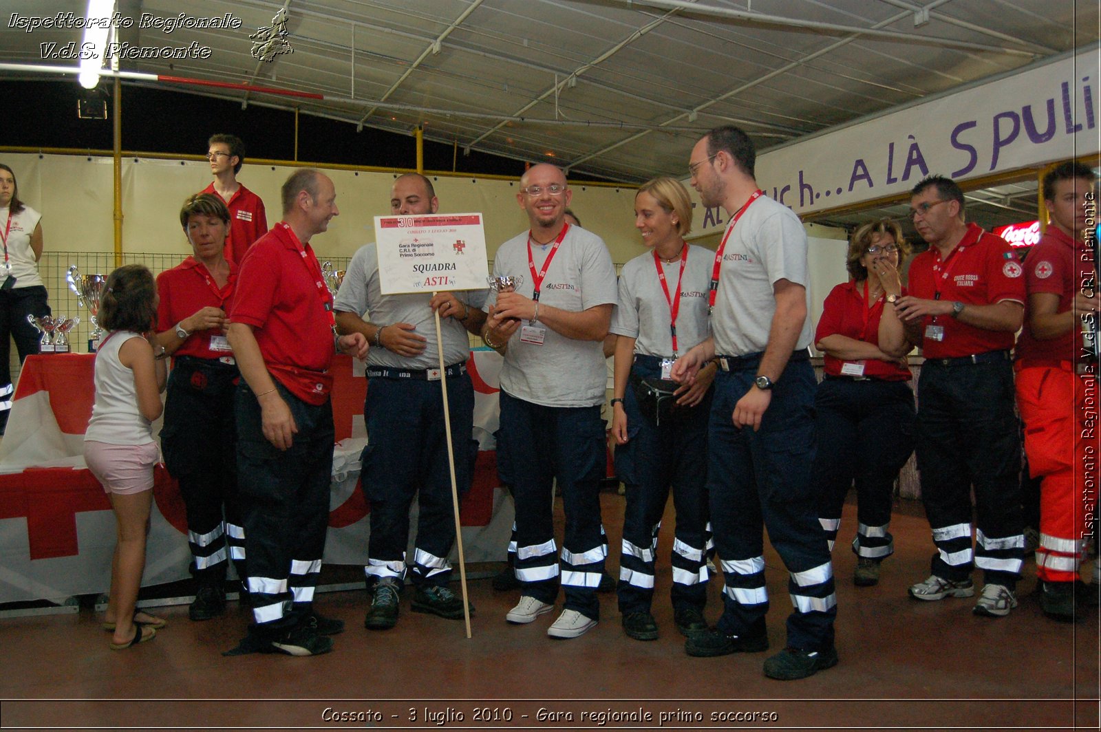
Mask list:
POLYGON ((671 381, 669 370, 710 335, 715 255, 685 242, 691 203, 673 178, 654 178, 639 189, 634 226, 650 251, 623 266, 610 329, 617 336, 612 435, 617 473, 626 485, 617 593, 624 633, 653 641, 654 554, 671 488, 677 514, 674 623, 686 636, 707 629, 707 418, 715 365, 690 385, 671 381))

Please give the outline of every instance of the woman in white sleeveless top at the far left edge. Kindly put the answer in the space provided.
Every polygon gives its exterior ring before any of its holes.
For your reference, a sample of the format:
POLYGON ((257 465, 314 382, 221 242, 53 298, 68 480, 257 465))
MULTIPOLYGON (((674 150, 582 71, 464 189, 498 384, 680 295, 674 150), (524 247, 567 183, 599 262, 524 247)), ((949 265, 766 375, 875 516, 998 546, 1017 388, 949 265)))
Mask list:
POLYGON ((19 199, 19 184, 10 167, 0 163, 0 436, 11 411, 11 340, 19 362, 39 352, 39 332, 28 315, 50 315, 46 287, 39 276, 42 258, 42 216, 19 199))

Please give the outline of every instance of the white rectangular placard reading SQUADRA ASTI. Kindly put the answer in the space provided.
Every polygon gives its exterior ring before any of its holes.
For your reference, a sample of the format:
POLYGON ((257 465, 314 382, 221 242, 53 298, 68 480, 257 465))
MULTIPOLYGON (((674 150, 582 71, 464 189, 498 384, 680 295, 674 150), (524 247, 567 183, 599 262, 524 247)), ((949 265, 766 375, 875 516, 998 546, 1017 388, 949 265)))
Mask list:
POLYGON ((375 216, 374 241, 383 295, 486 288, 481 214, 375 216))

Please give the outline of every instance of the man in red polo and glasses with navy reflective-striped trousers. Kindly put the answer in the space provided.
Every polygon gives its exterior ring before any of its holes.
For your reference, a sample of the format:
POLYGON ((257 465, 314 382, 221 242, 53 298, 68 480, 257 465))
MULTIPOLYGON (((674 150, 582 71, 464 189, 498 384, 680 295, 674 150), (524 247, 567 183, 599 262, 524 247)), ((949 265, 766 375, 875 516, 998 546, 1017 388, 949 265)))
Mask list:
POLYGON ((1023 270, 1010 245, 963 222, 963 192, 942 176, 911 192, 911 217, 929 249, 909 265, 896 307, 925 363, 917 384, 917 467, 937 554, 917 600, 969 598, 983 570, 977 615, 1002 616, 1024 558, 1021 443, 1010 349, 1024 313, 1023 270), (971 548, 971 488, 978 531, 971 548))

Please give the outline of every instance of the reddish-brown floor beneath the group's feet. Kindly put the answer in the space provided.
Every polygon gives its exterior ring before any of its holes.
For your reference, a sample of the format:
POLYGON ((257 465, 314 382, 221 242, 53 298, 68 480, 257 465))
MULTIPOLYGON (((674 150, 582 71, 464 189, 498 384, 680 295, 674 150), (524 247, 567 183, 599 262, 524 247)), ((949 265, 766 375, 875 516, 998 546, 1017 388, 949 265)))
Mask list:
MULTIPOLYGON (((618 537, 623 499, 601 498, 608 533, 618 537)), ((560 529, 560 502, 558 511, 560 529)), ((971 599, 907 598, 906 587, 928 575, 933 551, 914 502, 896 506, 896 551, 873 588, 852 583, 855 506, 846 506, 835 550, 841 660, 793 682, 762 675, 768 653, 685 655, 668 604, 672 525, 671 509, 659 545, 655 642, 623 635, 613 594, 601 596, 600 624, 580 638, 550 641, 546 629, 556 614, 509 625, 504 613, 517 593, 494 592, 488 579, 468 583, 477 608, 470 640, 461 621, 410 612, 412 590, 397 627, 381 633, 362 626, 362 590, 319 596, 320 612, 348 627, 333 653, 314 658, 222 657, 248 620, 236 602, 205 623, 189 622, 186 607, 161 609, 168 626, 124 652, 108 649, 90 610, 10 619, 0 621, 0 719, 4 728, 62 729, 1098 729, 1098 612, 1073 624, 1046 619, 1031 560, 1021 605, 1009 618, 974 616, 971 599)), ((613 545, 613 573, 618 555, 613 545)), ((784 645, 787 575, 771 549, 766 562, 774 653, 784 645)), ((359 571, 330 568, 325 580, 359 571)), ((720 590, 713 578, 712 621, 720 590)))

